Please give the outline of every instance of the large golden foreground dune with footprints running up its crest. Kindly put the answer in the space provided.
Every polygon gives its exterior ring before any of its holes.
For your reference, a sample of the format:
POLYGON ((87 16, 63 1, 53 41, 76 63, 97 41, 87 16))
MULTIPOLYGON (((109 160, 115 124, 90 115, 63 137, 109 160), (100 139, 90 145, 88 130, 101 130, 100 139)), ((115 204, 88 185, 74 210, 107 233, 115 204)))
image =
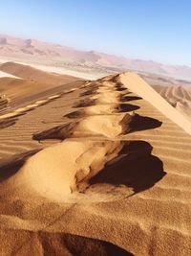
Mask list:
POLYGON ((1 255, 190 254, 191 127, 136 74, 22 114, 0 127, 1 255))

